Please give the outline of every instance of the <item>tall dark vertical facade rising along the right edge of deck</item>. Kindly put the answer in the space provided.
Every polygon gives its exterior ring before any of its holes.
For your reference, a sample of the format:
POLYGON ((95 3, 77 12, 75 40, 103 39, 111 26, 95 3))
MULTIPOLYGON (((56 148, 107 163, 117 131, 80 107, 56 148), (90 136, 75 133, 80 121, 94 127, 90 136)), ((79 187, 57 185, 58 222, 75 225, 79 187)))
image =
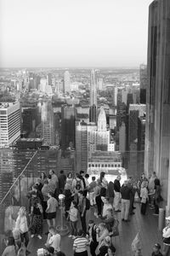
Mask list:
MULTIPOLYGON (((146 93, 145 172, 155 171, 170 206, 170 1, 150 4, 148 87, 146 93), (167 189, 168 188, 168 189, 167 189), (168 190, 168 192, 167 192, 168 190)), ((168 212, 169 213, 169 212, 168 212)), ((167 214, 168 214, 167 213, 167 214)))

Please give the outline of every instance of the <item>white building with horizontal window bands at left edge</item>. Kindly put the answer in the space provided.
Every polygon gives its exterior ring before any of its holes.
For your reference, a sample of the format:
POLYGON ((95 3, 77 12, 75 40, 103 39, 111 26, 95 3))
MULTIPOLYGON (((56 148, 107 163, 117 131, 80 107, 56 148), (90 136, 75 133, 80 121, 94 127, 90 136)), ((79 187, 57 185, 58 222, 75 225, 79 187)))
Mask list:
POLYGON ((20 138, 20 102, 0 104, 0 147, 20 138))

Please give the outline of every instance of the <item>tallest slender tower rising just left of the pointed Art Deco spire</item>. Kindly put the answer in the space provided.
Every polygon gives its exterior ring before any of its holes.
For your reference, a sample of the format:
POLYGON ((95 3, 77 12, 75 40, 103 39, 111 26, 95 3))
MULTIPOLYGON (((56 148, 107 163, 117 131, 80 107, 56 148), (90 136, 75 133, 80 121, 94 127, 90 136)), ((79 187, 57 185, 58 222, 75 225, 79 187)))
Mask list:
POLYGON ((97 82, 95 78, 94 69, 90 74, 90 109, 89 109, 89 121, 96 123, 97 112, 97 82))

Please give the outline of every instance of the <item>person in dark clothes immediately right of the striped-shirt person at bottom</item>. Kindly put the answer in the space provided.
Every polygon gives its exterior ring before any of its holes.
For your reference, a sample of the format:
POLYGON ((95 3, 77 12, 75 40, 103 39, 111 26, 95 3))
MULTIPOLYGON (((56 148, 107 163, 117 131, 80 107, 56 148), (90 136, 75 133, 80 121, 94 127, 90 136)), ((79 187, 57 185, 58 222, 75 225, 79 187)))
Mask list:
POLYGON ((90 219, 88 222, 88 239, 89 239, 89 247, 90 253, 92 256, 96 256, 96 248, 99 245, 99 242, 96 239, 96 228, 97 226, 94 224, 94 220, 90 219))

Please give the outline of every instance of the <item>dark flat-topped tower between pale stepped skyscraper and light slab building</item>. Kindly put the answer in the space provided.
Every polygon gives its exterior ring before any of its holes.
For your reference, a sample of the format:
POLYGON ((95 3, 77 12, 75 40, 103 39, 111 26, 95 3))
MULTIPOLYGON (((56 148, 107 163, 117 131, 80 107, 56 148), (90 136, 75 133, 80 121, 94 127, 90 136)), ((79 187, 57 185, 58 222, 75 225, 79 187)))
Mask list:
POLYGON ((76 108, 66 106, 63 106, 61 108, 61 148, 63 149, 63 151, 65 151, 65 149, 69 148, 70 146, 75 148, 76 118, 76 108))

